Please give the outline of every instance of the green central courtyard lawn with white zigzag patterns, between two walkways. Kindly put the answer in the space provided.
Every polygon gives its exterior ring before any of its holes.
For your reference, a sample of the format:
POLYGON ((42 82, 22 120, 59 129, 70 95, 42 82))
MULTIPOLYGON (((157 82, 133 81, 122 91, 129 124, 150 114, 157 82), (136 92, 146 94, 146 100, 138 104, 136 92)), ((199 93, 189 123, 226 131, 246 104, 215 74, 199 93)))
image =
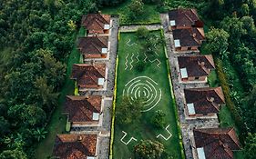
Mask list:
MULTIPOLYGON (((150 32, 150 34, 155 34, 160 36, 160 31, 154 31, 150 32)), ((135 33, 120 33, 120 39, 118 42, 118 90, 117 90, 117 106, 116 111, 118 111, 118 100, 122 97, 123 90, 124 92, 128 91, 128 86, 125 86, 128 84, 129 81, 132 79, 138 77, 140 79, 141 83, 146 84, 147 81, 150 82, 151 78, 154 82, 151 82, 152 90, 154 87, 156 88, 156 94, 153 93, 153 95, 157 96, 158 100, 153 101, 153 103, 156 103, 155 107, 148 110, 147 112, 143 112, 141 120, 138 123, 135 124, 128 124, 128 125, 120 125, 115 124, 115 137, 114 137, 114 159, 128 159, 133 158, 133 146, 135 144, 138 144, 138 141, 142 139, 150 139, 152 141, 158 140, 161 144, 164 144, 166 152, 169 154, 169 156, 173 156, 173 158, 180 158, 181 150, 179 148, 179 134, 178 134, 178 127, 176 123, 176 117, 175 117, 175 109, 173 105, 174 99, 172 99, 169 89, 169 78, 168 78, 168 68, 166 64, 166 57, 164 53, 164 47, 163 45, 157 45, 157 53, 159 54, 157 58, 159 59, 159 62, 149 63, 146 67, 146 69, 143 72, 138 72, 135 68, 136 63, 136 54, 140 53, 141 49, 141 41, 137 39, 137 36, 135 33), (136 45, 135 45, 136 43, 136 45), (133 55, 133 56, 132 56, 133 55), (126 59, 128 59, 128 62, 126 62, 126 59), (133 60, 132 60, 133 59, 133 60), (128 66, 127 66, 127 65, 128 66), (132 64, 133 67, 130 65, 132 64), (159 65, 159 67, 157 66, 159 65), (126 69, 127 68, 127 69, 126 69), (147 76, 146 77, 139 77, 139 76, 147 76), (148 78, 149 77, 149 78, 148 78), (143 78, 146 78, 146 80, 143 80, 143 78), (165 112, 166 115, 166 121, 167 125, 169 125, 169 132, 171 134, 171 137, 169 137, 169 133, 165 129, 157 129, 153 127, 150 124, 150 120, 157 110, 162 110, 165 112), (125 143, 128 142, 128 140, 131 137, 134 137, 138 141, 131 140, 131 142, 126 145, 120 141, 120 139, 123 137, 123 132, 125 131, 127 133, 127 136, 123 139, 125 143), (162 137, 157 138, 158 134, 162 134, 164 137, 168 138, 168 140, 164 140, 162 137)), ((145 62, 144 62, 145 63, 145 62)), ((136 82, 136 81, 133 81, 136 82)), ((130 90, 132 90, 132 87, 135 87, 136 85, 132 83, 128 84, 131 85, 130 90)), ((140 88, 139 88, 140 90, 140 88)), ((132 92, 132 91, 131 91, 132 92)), ((134 92, 136 92, 136 89, 134 89, 134 92)), ((141 90, 142 92, 142 90, 141 90)), ((138 94, 141 92, 139 91, 138 94)), ((144 93, 146 94, 146 93, 144 93)), ((130 96, 136 96, 134 94, 129 94, 130 96)), ((143 94, 142 94, 143 95, 143 94)), ((150 105, 150 104, 149 104, 150 105)), ((148 108, 148 107, 147 107, 148 108)))

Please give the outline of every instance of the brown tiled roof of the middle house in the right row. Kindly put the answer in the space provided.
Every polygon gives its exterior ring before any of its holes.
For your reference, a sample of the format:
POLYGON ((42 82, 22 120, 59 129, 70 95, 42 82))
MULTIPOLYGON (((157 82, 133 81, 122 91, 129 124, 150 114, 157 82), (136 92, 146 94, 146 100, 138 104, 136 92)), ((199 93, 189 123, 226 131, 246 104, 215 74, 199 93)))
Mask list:
POLYGON ((212 55, 178 56, 179 69, 186 68, 189 77, 205 76, 215 68, 212 55))

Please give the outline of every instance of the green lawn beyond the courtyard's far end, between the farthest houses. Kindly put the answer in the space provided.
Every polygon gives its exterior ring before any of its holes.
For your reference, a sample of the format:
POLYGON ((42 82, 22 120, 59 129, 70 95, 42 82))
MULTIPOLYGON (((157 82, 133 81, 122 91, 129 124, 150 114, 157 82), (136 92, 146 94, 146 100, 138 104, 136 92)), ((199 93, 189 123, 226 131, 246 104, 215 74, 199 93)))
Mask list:
POLYGON ((160 23, 160 15, 156 5, 144 5, 144 14, 136 19, 129 18, 128 5, 130 0, 118 6, 102 8, 103 14, 119 15, 120 25, 156 24, 160 23))

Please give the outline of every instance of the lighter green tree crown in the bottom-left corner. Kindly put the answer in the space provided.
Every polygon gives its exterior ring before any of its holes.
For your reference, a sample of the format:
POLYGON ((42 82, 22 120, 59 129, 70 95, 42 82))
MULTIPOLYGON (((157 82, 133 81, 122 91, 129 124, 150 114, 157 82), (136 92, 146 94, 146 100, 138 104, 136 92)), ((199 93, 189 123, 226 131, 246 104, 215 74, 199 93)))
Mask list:
POLYGON ((0 154, 0 158, 2 159, 26 159, 26 154, 20 150, 5 150, 0 154))

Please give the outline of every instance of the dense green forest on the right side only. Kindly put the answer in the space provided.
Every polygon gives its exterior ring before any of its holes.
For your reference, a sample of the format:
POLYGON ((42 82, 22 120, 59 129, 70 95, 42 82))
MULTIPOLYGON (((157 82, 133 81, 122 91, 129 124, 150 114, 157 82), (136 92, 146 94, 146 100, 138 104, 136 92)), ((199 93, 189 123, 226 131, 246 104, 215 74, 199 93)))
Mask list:
POLYGON ((255 158, 256 1, 210 0, 201 12, 211 26, 205 48, 225 73, 218 75, 223 91, 230 94, 226 103, 245 144, 245 157, 255 158))

